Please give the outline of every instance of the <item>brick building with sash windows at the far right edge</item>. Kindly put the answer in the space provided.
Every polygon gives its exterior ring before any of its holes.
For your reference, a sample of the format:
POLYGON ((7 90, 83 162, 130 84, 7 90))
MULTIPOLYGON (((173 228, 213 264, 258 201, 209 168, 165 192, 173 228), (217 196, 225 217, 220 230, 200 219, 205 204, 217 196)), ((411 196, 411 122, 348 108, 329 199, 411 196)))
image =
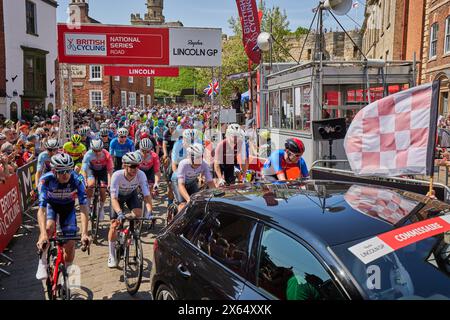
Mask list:
POLYGON ((426 0, 422 81, 441 80, 440 113, 450 112, 450 0, 426 0))

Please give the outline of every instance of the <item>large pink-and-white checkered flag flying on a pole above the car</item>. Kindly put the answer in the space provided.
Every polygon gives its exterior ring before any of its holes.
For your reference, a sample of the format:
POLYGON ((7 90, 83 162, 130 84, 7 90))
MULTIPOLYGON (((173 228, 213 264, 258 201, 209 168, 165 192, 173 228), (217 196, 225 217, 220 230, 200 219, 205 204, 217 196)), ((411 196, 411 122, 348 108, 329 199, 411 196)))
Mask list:
POLYGON ((439 81, 369 104, 353 119, 344 148, 357 175, 428 175, 434 170, 439 81))

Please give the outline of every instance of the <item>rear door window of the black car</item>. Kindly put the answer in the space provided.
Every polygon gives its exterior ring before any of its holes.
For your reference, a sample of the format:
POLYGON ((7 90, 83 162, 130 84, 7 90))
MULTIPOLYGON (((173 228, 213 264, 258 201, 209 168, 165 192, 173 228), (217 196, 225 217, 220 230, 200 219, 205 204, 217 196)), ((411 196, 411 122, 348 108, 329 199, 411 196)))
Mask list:
POLYGON ((204 253, 245 276, 255 225, 251 219, 230 211, 214 214, 200 227, 196 243, 204 253))

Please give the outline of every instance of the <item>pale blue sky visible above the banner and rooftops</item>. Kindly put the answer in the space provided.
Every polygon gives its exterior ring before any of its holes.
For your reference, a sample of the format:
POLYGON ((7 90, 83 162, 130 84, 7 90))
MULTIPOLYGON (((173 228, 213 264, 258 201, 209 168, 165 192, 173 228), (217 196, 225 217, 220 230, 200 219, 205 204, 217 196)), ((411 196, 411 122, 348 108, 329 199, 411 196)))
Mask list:
MULTIPOLYGON (((58 22, 67 20, 69 2, 71 1, 58 0, 58 22)), ((89 0, 88 2, 89 15, 104 24, 129 25, 132 13, 140 13, 141 17, 144 17, 147 12, 145 0, 89 0)), ((347 16, 339 17, 339 21, 347 30, 360 27, 364 19, 365 0, 353 0, 353 2, 359 3, 359 8, 352 9, 348 16, 356 23, 347 16)), ((318 0, 266 0, 268 8, 278 6, 281 10, 286 10, 291 30, 299 26, 308 28, 314 17, 312 9, 318 3, 318 0)), ((164 16, 166 21, 179 20, 186 27, 222 28, 223 33, 231 35, 228 19, 232 16, 237 17, 238 11, 235 0, 165 0, 164 16)), ((328 30, 338 28, 338 24, 331 16, 324 19, 324 26, 328 30)))

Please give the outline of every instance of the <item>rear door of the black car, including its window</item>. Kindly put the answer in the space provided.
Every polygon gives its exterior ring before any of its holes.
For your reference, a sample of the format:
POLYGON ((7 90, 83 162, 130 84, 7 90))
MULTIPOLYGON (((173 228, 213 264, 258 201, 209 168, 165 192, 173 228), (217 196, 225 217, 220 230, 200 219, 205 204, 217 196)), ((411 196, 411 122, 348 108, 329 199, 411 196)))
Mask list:
POLYGON ((184 277, 184 298, 236 300, 244 288, 255 220, 239 209, 211 204, 209 214, 190 242, 184 262, 178 266, 184 277), (195 249, 195 250, 192 250, 195 249))

